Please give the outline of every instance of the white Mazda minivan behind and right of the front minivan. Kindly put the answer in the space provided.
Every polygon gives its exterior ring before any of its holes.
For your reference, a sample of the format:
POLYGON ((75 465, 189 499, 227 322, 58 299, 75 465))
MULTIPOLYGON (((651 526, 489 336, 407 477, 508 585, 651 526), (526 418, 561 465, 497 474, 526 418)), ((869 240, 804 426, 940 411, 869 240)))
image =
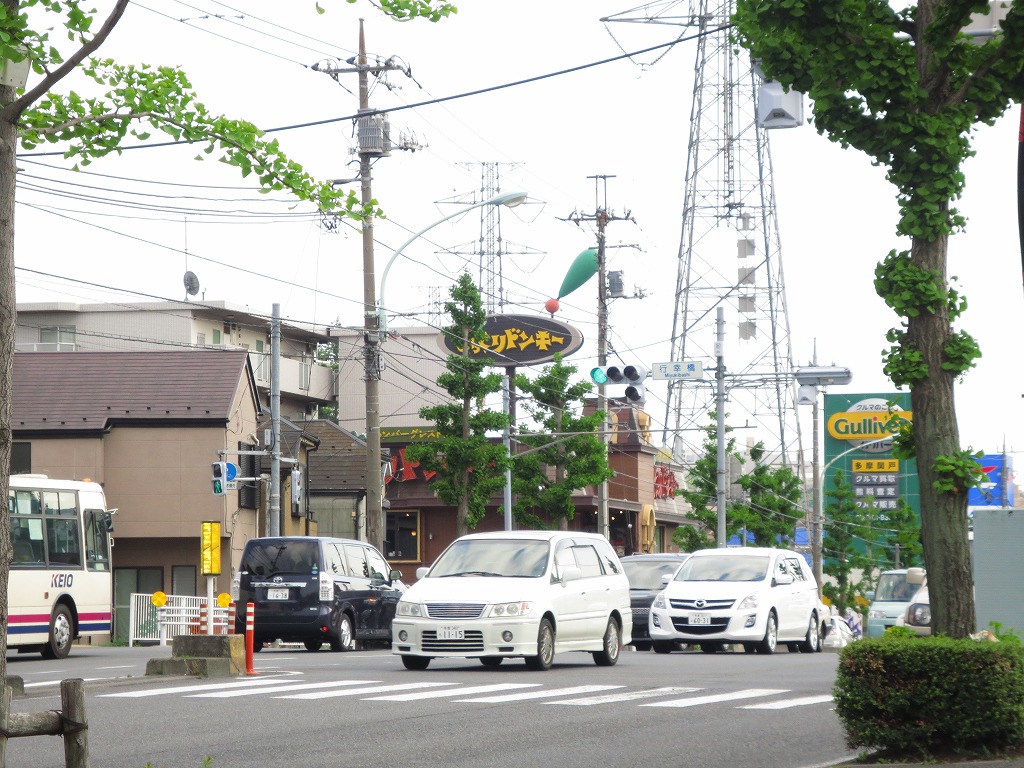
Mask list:
POLYGON ((694 552, 654 598, 653 642, 678 641, 715 653, 727 644, 774 653, 821 650, 828 616, 804 556, 784 549, 738 547, 694 552))

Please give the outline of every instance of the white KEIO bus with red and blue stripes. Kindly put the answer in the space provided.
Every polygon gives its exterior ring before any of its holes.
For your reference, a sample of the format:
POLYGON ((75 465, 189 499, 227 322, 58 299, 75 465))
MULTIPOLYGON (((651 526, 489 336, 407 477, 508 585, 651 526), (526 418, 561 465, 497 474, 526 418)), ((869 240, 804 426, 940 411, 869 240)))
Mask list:
POLYGON ((98 483, 11 475, 7 647, 63 658, 111 633, 113 512, 98 483))

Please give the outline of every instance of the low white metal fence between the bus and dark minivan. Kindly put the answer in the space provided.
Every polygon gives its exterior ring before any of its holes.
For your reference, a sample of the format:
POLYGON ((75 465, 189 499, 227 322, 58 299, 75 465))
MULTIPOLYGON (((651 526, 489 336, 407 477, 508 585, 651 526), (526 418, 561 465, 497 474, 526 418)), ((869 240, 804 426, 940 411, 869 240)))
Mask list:
POLYGON ((234 632, 231 607, 221 608, 207 597, 168 595, 167 604, 158 608, 153 604, 153 595, 133 593, 128 613, 129 647, 135 643, 152 642, 167 645, 167 639, 175 635, 227 635, 234 632))

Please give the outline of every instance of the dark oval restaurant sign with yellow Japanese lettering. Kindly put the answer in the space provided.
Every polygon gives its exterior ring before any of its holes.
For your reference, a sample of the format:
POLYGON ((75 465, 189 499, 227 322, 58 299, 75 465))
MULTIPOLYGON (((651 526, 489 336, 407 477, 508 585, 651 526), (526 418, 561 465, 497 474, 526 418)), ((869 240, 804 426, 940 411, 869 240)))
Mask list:
MULTIPOLYGON (((499 368, 550 362, 556 354, 568 357, 583 346, 583 334, 565 323, 532 314, 489 314, 483 326, 486 338, 472 342, 471 357, 489 357, 499 368)), ((462 339, 441 333, 442 349, 462 354, 462 339)))

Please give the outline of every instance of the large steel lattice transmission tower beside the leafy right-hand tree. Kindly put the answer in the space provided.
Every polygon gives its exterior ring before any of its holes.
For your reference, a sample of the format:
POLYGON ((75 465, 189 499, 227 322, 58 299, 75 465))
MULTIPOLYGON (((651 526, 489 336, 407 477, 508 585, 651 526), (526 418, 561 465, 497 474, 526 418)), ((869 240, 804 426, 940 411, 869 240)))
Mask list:
MULTIPOLYGON (((773 461, 800 464, 771 155, 757 119, 761 79, 730 43, 733 9, 733 0, 663 0, 602 20, 681 26, 696 37, 672 359, 716 360, 723 307, 727 426, 753 428, 734 433, 737 444, 762 440, 773 461)), ((716 409, 707 369, 703 383, 670 382, 666 442, 672 435, 680 462, 701 453, 694 430, 716 409)))

